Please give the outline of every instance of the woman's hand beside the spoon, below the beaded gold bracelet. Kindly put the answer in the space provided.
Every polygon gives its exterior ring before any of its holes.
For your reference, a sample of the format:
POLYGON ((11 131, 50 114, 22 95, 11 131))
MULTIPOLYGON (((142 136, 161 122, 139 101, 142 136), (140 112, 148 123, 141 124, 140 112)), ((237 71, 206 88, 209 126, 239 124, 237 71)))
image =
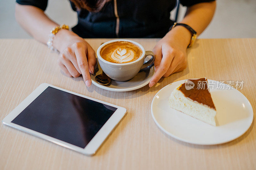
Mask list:
POLYGON ((58 64, 69 77, 83 75, 85 85, 92 84, 90 73, 96 65, 95 52, 92 47, 77 34, 61 29, 53 39, 53 46, 59 52, 58 64))

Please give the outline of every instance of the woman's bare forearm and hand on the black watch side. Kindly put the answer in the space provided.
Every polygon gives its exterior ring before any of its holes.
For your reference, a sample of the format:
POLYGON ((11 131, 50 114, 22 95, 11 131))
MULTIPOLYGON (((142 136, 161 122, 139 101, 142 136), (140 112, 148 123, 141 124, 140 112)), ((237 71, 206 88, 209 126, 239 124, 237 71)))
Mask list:
MULTIPOLYGON (((180 23, 191 26, 197 35, 201 34, 211 22, 216 2, 205 2, 187 8, 185 17, 180 23)), ((156 55, 156 74, 151 78, 149 87, 152 87, 164 76, 182 71, 187 67, 186 49, 191 40, 191 33, 183 26, 175 26, 160 40, 153 52, 156 55)))

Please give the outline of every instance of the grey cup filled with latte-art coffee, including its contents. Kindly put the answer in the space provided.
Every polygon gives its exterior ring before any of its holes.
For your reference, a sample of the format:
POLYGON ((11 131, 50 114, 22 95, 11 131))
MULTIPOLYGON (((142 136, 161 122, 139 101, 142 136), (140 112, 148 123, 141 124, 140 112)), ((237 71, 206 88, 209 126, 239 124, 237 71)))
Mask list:
POLYGON ((140 70, 151 66, 155 60, 152 51, 145 51, 139 43, 125 39, 103 43, 97 50, 97 57, 101 69, 116 81, 132 79, 140 70), (152 57, 144 63, 148 55, 152 57))

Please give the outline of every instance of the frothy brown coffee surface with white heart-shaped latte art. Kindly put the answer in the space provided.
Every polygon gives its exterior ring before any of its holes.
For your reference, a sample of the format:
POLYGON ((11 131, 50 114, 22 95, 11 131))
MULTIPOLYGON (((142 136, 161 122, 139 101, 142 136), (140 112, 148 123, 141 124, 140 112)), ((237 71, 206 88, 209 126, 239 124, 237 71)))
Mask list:
POLYGON ((111 63, 130 63, 141 55, 141 48, 129 41, 111 42, 100 50, 100 56, 111 63))

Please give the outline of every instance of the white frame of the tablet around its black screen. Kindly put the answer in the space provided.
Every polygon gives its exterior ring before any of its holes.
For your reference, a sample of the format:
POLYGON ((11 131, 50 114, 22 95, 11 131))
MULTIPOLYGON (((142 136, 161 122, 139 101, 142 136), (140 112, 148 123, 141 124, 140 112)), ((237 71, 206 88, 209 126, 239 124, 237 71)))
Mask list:
POLYGON ((111 133, 111 131, 116 127, 116 125, 121 121, 121 119, 126 114, 126 109, 124 107, 116 106, 101 100, 93 99, 87 96, 84 96, 82 94, 78 94, 75 92, 71 92, 65 89, 62 89, 60 87, 56 87, 54 85, 50 85, 47 83, 43 83, 39 85, 36 90, 34 90, 25 100, 23 100, 15 109, 12 110, 11 113, 9 113, 4 119, 3 123, 5 125, 11 126, 12 128, 19 129, 21 131, 24 131, 28 134, 34 135, 36 137, 43 138, 47 141, 51 141, 55 144, 59 144, 61 146, 64 146, 66 148, 69 148, 71 150, 74 150, 76 152, 83 153, 85 155, 92 156, 95 154, 95 152, 99 149, 100 145, 104 142, 104 140, 108 137, 108 135, 111 133), (113 113, 113 115, 108 119, 108 121, 102 126, 102 128, 98 131, 98 133, 92 138, 92 140, 85 146, 85 148, 80 148, 78 146, 75 146, 73 144, 69 144, 67 142, 61 141, 59 139, 56 139, 54 137, 50 137, 47 135, 44 135, 42 133, 36 132, 34 130, 25 128, 23 126, 17 125, 15 123, 12 123, 12 120, 17 117, 28 105, 34 101, 47 87, 53 87, 59 90, 62 90, 64 92, 68 92, 71 94, 75 94, 77 96, 84 97, 86 99, 90 99, 93 101, 97 101, 112 107, 116 107, 116 111, 113 113))

